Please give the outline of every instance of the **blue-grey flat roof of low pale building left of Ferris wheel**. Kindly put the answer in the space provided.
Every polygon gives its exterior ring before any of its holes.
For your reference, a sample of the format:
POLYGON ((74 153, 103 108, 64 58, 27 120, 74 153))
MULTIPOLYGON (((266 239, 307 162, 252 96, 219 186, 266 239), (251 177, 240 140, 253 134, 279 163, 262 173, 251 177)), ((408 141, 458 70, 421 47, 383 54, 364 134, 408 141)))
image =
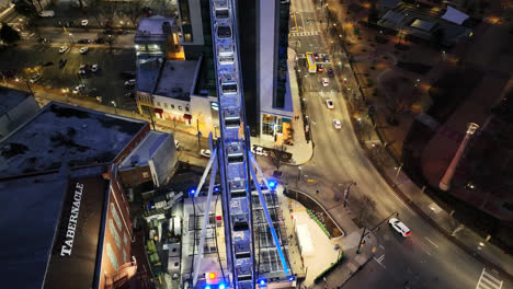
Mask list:
POLYGON ((171 99, 189 101, 197 60, 161 60, 147 58, 139 62, 137 90, 171 99))

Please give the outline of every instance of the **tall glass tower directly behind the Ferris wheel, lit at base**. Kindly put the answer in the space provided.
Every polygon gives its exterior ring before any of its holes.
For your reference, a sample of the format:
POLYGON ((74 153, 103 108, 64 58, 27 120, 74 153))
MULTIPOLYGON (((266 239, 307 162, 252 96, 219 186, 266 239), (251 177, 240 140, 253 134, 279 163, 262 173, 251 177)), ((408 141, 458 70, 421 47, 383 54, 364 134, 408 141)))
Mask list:
MULTIPOLYGON (((209 1, 179 0, 178 4, 185 58, 212 55, 209 1)), ((285 142, 292 137, 294 117, 287 74, 289 1, 244 0, 237 4, 238 15, 243 18, 238 21, 240 61, 251 136, 267 143, 285 142)))

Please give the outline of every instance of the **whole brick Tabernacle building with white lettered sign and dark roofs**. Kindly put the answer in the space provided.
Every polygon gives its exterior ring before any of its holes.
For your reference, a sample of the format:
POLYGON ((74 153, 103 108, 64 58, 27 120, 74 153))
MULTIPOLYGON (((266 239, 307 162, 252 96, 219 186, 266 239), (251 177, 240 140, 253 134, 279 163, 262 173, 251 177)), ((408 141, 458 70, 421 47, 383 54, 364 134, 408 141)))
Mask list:
POLYGON ((149 134, 146 122, 49 103, 1 140, 3 287, 151 288, 117 170, 149 134))

